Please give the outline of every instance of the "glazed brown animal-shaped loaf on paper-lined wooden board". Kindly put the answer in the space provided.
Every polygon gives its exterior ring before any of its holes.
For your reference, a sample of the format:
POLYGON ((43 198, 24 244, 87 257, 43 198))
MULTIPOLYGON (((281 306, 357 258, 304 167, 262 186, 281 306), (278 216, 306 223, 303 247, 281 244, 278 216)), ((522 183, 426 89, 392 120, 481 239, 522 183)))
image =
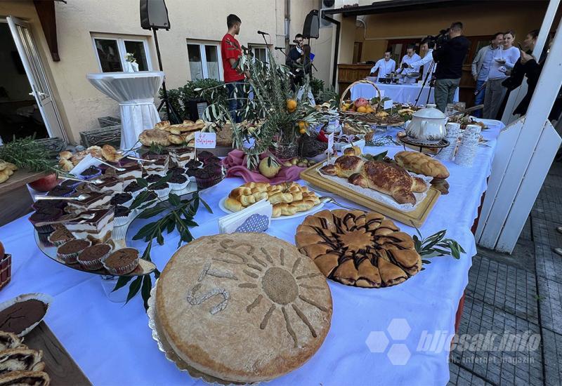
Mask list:
POLYGON ((440 192, 431 176, 412 173, 396 162, 375 160, 355 148, 317 164, 301 178, 344 199, 370 208, 407 225, 421 226, 440 192))

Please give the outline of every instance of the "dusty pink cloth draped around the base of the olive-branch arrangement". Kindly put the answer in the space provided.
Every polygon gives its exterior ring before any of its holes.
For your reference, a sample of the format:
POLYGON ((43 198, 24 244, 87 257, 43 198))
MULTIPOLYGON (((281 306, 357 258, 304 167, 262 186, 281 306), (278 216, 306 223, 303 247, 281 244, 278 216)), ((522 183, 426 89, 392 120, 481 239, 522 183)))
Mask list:
MULTIPOLYGON (((262 155, 261 158, 266 157, 262 155)), ((245 182, 269 182, 270 184, 280 184, 285 181, 299 180, 301 171, 306 168, 299 168, 299 166, 281 166, 281 170, 274 178, 267 178, 261 173, 250 171, 246 167, 246 157, 242 150, 234 149, 232 152, 223 159, 223 165, 228 169, 226 177, 240 177, 245 182)))

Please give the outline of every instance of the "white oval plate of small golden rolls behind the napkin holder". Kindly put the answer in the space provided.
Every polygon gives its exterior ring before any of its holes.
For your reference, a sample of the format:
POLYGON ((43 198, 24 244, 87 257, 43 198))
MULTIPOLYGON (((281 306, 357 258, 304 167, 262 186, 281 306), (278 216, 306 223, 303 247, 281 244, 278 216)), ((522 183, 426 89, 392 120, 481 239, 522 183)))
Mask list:
POLYGON ((268 182, 247 182, 233 189, 218 206, 226 213, 242 211, 256 202, 268 199, 273 205, 271 220, 296 218, 318 211, 324 203, 308 187, 296 182, 270 185, 268 182))

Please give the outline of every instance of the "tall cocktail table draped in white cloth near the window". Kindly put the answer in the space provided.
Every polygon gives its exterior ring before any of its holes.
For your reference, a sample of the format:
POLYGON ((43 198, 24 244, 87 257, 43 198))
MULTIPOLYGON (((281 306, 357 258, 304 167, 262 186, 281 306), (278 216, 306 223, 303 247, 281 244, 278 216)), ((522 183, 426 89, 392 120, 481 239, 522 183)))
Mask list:
POLYGON ((154 105, 164 72, 104 72, 87 74, 99 91, 119 102, 121 111, 121 148, 130 149, 138 135, 153 128, 161 119, 154 105))

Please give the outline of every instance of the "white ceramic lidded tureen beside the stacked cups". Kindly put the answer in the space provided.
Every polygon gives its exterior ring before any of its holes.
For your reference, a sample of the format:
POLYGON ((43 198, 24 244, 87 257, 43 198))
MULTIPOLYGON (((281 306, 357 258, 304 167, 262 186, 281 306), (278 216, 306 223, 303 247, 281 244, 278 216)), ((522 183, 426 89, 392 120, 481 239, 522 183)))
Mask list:
POLYGON ((428 104, 412 114, 412 121, 406 128, 406 135, 421 142, 436 143, 445 138, 447 117, 436 105, 428 104))

